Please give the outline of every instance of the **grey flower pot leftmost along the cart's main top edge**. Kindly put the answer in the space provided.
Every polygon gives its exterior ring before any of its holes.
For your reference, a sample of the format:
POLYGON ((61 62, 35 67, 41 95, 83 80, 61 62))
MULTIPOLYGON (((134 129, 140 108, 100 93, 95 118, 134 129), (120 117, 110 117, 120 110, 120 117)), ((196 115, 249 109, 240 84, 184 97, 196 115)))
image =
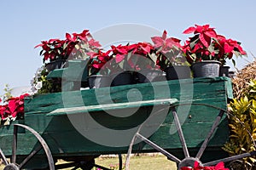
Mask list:
POLYGON ((110 78, 105 75, 91 75, 88 77, 89 88, 110 87, 110 78))

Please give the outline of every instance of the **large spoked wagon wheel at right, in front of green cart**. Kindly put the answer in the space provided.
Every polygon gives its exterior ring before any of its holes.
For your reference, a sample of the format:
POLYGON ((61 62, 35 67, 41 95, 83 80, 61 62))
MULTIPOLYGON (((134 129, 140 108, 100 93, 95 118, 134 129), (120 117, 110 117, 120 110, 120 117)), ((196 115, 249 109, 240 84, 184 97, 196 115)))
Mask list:
MULTIPOLYGON (((196 105, 196 104, 194 104, 194 105, 196 105)), ((198 104, 198 105, 205 105, 205 104, 198 104)), ((186 141, 185 141, 184 136, 183 136, 183 130, 181 128, 181 124, 179 122, 177 112, 175 110, 175 107, 173 105, 171 105, 170 109, 172 111, 172 116, 173 116, 174 123, 175 123, 176 128, 177 128, 178 137, 179 137, 180 142, 182 144, 183 154, 185 156, 183 158, 183 160, 178 159, 176 156, 173 156, 168 151, 162 149, 159 145, 154 144, 154 142, 145 138, 140 133, 140 130, 143 127, 143 124, 142 124, 138 128, 137 133, 134 135, 133 139, 131 139, 131 144, 129 146, 129 150, 128 150, 128 153, 127 153, 127 156, 126 156, 126 161, 125 161, 125 170, 129 170, 129 161, 130 161, 130 156, 131 156, 132 145, 134 144, 136 139, 141 139, 143 142, 150 145, 155 150, 158 150, 160 153, 162 153, 164 156, 166 156, 169 160, 175 161, 177 163, 177 168, 178 169, 180 169, 181 167, 194 167, 195 161, 199 162, 199 164, 201 166, 213 166, 213 165, 218 164, 218 162, 220 162, 220 161, 224 161, 224 162, 235 161, 235 160, 247 157, 247 156, 256 155, 256 151, 252 151, 252 152, 240 154, 240 155, 237 155, 237 156, 230 156, 230 157, 226 157, 226 158, 223 158, 223 159, 218 159, 218 160, 215 160, 215 161, 209 161, 209 162, 206 162, 206 163, 202 163, 201 162, 201 156, 203 155, 204 151, 207 149, 207 144, 209 143, 209 141, 212 137, 212 133, 215 132, 216 128, 218 127, 219 122, 221 121, 222 117, 224 116, 224 113, 227 112, 227 111, 224 111, 221 108, 217 108, 217 107, 214 107, 212 105, 207 105, 207 106, 218 109, 219 113, 218 113, 218 116, 215 119, 215 122, 213 122, 212 127, 211 127, 209 133, 207 134, 206 139, 204 140, 203 144, 201 144, 200 150, 197 152, 195 157, 189 156, 189 150, 188 150, 186 141)))

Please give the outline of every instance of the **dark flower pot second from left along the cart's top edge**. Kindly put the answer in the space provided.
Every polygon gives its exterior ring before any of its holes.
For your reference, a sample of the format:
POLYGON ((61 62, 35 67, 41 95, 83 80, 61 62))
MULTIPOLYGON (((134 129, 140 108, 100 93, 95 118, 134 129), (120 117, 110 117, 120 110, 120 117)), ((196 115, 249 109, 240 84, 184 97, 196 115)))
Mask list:
POLYGON ((127 84, 133 84, 133 76, 131 71, 124 71, 111 75, 111 86, 121 86, 127 84))

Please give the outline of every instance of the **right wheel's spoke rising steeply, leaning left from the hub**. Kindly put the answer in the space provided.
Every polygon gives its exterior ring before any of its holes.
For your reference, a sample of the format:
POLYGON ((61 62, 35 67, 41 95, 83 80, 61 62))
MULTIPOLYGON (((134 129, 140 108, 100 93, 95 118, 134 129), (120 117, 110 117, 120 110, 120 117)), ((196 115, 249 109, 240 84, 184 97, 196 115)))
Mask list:
POLYGON ((177 128, 178 137, 181 141, 181 144, 183 145, 184 156, 189 157, 189 150, 188 150, 186 141, 184 139, 183 130, 182 130, 180 122, 178 120, 177 112, 176 112, 175 108, 172 108, 172 115, 173 115, 173 118, 174 118, 174 123, 175 123, 176 128, 177 128))

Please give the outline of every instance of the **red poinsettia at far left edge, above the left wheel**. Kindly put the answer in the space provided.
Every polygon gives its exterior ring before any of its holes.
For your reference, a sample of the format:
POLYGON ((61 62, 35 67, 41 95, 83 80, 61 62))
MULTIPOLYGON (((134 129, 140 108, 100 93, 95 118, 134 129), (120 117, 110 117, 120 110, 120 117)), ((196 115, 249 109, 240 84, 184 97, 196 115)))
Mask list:
MULTIPOLYGON (((0 105, 0 116, 3 121, 15 121, 16 118, 23 119, 24 117, 24 98, 29 94, 22 94, 19 97, 11 97, 0 105)), ((1 102, 1 99, 0 99, 1 102)))

